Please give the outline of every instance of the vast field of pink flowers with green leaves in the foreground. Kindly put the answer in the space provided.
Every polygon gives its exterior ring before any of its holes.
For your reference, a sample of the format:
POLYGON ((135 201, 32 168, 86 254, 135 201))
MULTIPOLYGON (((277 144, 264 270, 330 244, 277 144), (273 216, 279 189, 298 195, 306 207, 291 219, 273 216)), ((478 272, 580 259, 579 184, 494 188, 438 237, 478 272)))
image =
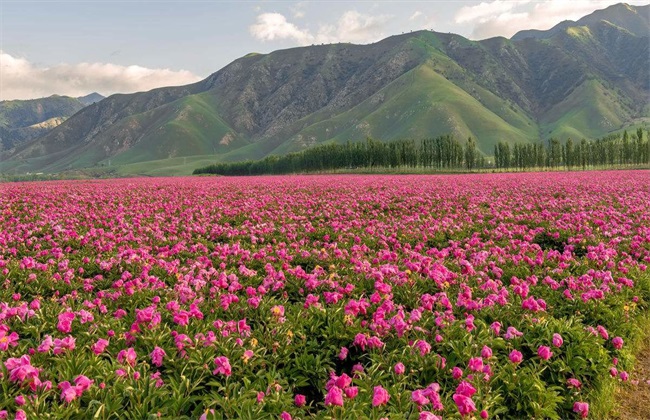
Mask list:
POLYGON ((592 418, 650 174, 0 185, 0 418, 592 418))

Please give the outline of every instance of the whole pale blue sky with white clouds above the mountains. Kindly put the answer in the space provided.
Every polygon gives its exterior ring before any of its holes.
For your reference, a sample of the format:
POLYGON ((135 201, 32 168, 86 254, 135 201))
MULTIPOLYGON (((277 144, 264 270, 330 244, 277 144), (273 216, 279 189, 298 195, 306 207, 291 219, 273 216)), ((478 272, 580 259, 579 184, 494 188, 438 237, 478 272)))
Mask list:
POLYGON ((510 37, 615 3, 0 0, 0 100, 182 85, 249 52, 365 44, 418 29, 470 39, 510 37))

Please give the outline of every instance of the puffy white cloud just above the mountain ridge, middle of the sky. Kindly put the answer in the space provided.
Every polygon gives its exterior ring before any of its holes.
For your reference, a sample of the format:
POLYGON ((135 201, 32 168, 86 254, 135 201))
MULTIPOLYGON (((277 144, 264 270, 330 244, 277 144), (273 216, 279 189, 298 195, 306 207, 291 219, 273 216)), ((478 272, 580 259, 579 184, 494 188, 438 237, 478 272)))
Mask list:
POLYGON ((366 15, 355 10, 346 11, 334 24, 321 24, 315 33, 299 28, 280 13, 262 13, 249 27, 251 35, 260 41, 292 40, 299 45, 354 42, 368 43, 385 36, 388 15, 366 15))

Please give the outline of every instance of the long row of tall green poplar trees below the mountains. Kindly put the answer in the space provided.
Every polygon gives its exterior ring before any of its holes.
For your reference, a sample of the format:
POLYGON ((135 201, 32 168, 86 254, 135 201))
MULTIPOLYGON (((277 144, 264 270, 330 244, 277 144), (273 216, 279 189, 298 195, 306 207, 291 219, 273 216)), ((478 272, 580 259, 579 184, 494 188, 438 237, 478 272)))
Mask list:
POLYGON ((643 129, 579 143, 558 139, 534 144, 499 142, 494 157, 481 153, 473 138, 461 143, 451 135, 422 140, 381 142, 366 139, 324 144, 283 156, 256 161, 223 162, 196 169, 198 174, 262 175, 336 170, 423 168, 431 171, 475 169, 583 168, 650 163, 650 142, 643 129), (644 138, 645 137, 645 138, 644 138))

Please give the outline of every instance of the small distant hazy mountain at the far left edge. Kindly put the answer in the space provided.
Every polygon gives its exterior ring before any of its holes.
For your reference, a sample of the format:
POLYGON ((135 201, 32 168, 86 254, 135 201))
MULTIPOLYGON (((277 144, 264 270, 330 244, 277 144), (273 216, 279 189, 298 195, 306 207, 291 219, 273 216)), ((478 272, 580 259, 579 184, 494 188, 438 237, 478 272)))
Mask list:
POLYGON ((102 100, 98 93, 80 98, 52 95, 48 98, 0 101, 0 152, 40 137, 78 111, 102 100))

